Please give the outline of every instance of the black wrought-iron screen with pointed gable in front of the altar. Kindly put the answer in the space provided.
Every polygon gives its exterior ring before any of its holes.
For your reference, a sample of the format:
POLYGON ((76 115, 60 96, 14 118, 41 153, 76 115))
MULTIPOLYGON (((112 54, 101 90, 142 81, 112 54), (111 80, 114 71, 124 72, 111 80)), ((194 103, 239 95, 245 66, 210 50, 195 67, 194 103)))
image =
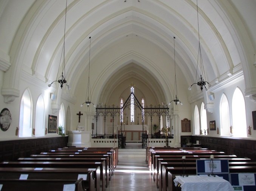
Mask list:
MULTIPOLYGON (((148 106, 143 107, 140 104, 140 102, 138 101, 138 99, 136 98, 136 96, 134 95, 134 93, 131 92, 131 94, 126 99, 126 101, 125 101, 125 103, 123 104, 122 107, 117 107, 115 105, 112 105, 112 106, 97 105, 97 107, 96 107, 96 137, 97 137, 97 121, 98 121, 98 117, 100 117, 100 116, 102 116, 103 120, 104 120, 104 135, 101 138, 106 138, 106 136, 109 137, 109 135, 105 134, 105 132, 106 132, 106 117, 108 117, 108 116, 110 116, 111 120, 112 120, 112 124, 113 124, 113 135, 112 136, 114 137, 114 117, 119 116, 121 118, 122 117, 122 115, 120 115, 121 111, 124 111, 125 108, 128 108, 130 110, 131 96, 133 96, 133 98, 134 98, 135 109, 137 109, 137 108, 140 109, 140 114, 139 115, 148 115, 148 117, 150 117, 151 136, 152 136, 152 118, 154 116, 157 116, 159 118, 159 124, 160 124, 161 116, 163 116, 163 115, 165 115, 167 117, 167 120, 169 122, 169 108, 168 108, 167 105, 160 105, 159 104, 157 106, 150 105, 149 107, 148 106)), ((122 130, 123 130, 122 126, 123 126, 123 123, 120 124, 121 134, 122 134, 122 130)), ((143 127, 144 127, 144 120, 142 120, 142 130, 144 131, 143 127)), ((159 131, 160 131, 160 129, 159 129, 159 131)), ((145 131, 145 133, 147 133, 147 132, 145 131)))

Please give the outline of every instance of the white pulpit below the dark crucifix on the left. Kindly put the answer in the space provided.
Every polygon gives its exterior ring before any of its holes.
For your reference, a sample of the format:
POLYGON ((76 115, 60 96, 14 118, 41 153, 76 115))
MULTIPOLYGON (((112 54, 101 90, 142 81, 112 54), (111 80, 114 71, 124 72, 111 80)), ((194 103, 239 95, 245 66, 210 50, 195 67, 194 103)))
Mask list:
POLYGON ((72 130, 68 136, 68 147, 91 147, 91 131, 72 130))

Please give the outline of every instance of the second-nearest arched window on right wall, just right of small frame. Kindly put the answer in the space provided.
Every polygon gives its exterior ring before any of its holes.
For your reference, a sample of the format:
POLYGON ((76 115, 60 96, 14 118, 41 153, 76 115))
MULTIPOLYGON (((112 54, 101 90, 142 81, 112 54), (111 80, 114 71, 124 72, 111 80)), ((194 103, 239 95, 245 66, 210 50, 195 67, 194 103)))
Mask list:
POLYGON ((228 99, 225 94, 221 97, 219 109, 221 117, 221 135, 230 135, 230 112, 228 99))

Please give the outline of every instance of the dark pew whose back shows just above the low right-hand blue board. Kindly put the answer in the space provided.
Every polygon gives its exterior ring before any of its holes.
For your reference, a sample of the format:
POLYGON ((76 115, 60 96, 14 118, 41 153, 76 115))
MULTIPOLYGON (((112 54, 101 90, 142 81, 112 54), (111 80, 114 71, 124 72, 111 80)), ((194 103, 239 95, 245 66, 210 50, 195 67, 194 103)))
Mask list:
MULTIPOLYGON (((162 189, 160 191, 167 191, 168 182, 173 183, 172 178, 174 175, 180 175, 182 172, 182 167, 166 167, 162 165, 162 189), (170 172, 170 175, 168 174, 170 172), (170 177, 168 177, 170 176, 170 177), (171 181, 170 181, 171 179, 171 181)), ((256 173, 256 166, 230 166, 229 167, 230 173, 256 173)), ((188 175, 196 175, 196 166, 194 167, 186 167, 185 174, 188 175)), ((159 186, 160 188, 160 186, 159 186)), ((172 186, 168 186, 168 190, 172 191, 172 186)))

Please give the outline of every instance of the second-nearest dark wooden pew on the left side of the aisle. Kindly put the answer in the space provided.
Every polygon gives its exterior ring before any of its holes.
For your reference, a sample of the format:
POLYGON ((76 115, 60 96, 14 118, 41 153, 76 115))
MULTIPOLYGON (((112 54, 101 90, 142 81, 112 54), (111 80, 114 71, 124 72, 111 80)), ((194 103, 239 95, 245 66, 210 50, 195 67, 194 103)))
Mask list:
MULTIPOLYGON (((100 168, 95 169, 95 171, 98 173, 99 182, 100 168)), ((88 168, 48 168, 41 170, 35 170, 35 168, 0 168, 0 180, 19 180, 21 175, 26 174, 28 176, 26 180, 72 180, 76 182, 79 174, 86 174, 86 179, 82 181, 83 188, 91 191, 94 191, 96 188, 96 191, 99 191, 100 189, 97 183, 95 184, 93 173, 88 168)))

